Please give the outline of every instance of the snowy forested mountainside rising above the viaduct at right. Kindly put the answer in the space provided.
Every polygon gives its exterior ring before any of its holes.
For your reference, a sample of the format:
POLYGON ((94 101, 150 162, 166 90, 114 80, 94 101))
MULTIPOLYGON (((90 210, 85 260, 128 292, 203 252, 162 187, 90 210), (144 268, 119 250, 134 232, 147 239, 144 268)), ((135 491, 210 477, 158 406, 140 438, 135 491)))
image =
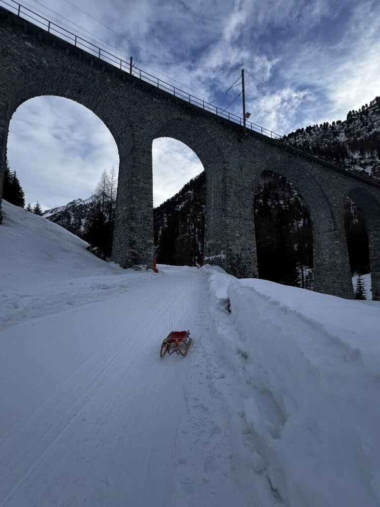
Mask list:
POLYGON ((285 141, 348 170, 380 178, 380 97, 349 111, 344 121, 302 127, 285 141))

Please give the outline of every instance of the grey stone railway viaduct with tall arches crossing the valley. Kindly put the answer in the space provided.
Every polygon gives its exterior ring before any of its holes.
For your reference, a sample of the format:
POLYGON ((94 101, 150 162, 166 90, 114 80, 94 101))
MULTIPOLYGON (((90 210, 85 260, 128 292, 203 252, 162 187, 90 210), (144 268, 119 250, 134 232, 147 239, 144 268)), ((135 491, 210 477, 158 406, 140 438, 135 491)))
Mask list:
POLYGON ((380 185, 243 129, 145 83, 0 8, 0 198, 9 123, 26 100, 55 95, 86 106, 118 146, 119 186, 112 258, 151 266, 152 143, 185 143, 206 172, 205 256, 238 277, 257 276, 253 203, 260 175, 285 176, 305 200, 313 227, 314 287, 352 298, 344 229, 351 197, 367 223, 373 299, 380 299, 380 185))

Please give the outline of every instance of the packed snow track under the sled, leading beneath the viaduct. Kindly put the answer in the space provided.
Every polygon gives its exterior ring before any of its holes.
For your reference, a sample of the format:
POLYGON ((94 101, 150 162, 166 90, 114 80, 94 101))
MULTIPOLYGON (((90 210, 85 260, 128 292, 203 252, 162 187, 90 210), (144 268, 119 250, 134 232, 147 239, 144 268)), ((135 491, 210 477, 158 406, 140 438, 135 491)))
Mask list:
POLYGON ((197 270, 164 269, 3 331, 2 507, 250 503, 224 435, 205 285, 197 270), (171 329, 191 330, 187 357, 159 357, 171 329))

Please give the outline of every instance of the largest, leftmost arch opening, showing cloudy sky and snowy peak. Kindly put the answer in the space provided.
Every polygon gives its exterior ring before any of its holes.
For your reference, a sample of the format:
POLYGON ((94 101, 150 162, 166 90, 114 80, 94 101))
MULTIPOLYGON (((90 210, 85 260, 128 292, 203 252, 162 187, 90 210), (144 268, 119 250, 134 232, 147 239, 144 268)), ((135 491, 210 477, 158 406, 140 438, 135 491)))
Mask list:
POLYGON ((51 220, 85 239, 98 207, 96 187, 103 171, 110 174, 113 168, 113 188, 105 189, 102 206, 110 221, 110 238, 109 251, 101 257, 110 255, 119 153, 111 132, 96 114, 61 96, 22 102, 10 121, 7 159, 25 192, 25 205, 30 202, 33 207, 38 201, 42 211, 59 208, 51 220))

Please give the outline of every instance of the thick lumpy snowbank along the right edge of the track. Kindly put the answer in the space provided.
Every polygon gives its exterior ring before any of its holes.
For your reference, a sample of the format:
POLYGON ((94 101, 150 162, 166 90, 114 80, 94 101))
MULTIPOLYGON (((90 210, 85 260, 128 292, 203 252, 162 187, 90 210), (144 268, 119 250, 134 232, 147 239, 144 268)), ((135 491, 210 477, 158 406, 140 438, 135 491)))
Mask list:
POLYGON ((205 269, 256 472, 291 507, 378 506, 380 306, 205 269))

